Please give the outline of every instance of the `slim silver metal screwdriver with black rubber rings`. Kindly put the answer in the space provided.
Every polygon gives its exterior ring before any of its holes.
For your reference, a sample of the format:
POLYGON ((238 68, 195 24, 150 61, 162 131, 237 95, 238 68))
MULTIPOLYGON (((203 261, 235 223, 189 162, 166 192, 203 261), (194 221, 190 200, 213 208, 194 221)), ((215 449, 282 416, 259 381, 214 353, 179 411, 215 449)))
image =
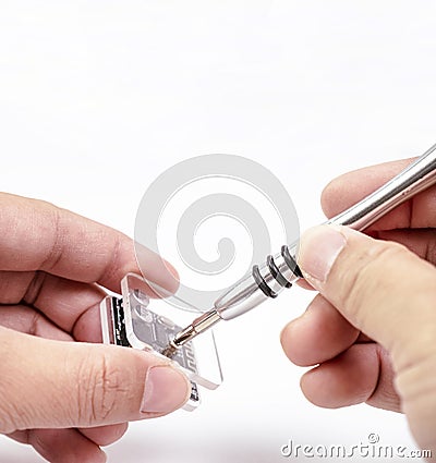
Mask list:
MULTIPOLYGON (((435 183, 436 145, 392 180, 325 223, 363 231, 391 209, 435 183)), ((290 288, 302 277, 295 263, 296 249, 298 243, 283 246, 281 253, 268 256, 266 264, 254 266, 251 273, 215 302, 211 310, 177 334, 178 344, 182 345, 182 342, 193 339, 219 319, 230 320, 245 314, 268 297, 276 297, 283 288, 290 288), (209 324, 206 320, 214 321, 209 324)))

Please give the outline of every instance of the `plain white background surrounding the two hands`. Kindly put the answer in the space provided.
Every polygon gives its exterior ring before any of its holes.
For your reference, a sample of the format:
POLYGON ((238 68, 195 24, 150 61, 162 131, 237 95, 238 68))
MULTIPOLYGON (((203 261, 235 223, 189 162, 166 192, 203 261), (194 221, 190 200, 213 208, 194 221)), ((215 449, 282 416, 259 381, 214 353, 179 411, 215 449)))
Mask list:
MULTIPOLYGON (((165 169, 239 154, 276 173, 306 228, 331 178, 435 142, 435 21, 432 0, 1 0, 1 188, 133 234, 165 169)), ((192 414, 132 425, 109 461, 270 463, 288 439, 368 432, 412 448, 401 415, 306 402, 279 331, 311 297, 292 290, 220 326, 221 388, 192 414)), ((1 438, 0 461, 41 460, 1 438)))

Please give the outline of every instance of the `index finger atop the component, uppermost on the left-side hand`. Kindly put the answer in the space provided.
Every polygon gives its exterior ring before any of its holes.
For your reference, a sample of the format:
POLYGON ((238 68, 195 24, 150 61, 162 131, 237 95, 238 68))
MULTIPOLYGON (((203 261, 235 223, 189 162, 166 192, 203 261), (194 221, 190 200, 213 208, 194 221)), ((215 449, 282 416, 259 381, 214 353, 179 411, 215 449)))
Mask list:
MULTIPOLYGON (((125 273, 140 273, 133 241, 110 227, 7 193, 0 193, 0 270, 44 270, 116 292, 125 273)), ((174 291, 179 283, 172 266, 150 249, 143 256, 145 277, 174 291)))

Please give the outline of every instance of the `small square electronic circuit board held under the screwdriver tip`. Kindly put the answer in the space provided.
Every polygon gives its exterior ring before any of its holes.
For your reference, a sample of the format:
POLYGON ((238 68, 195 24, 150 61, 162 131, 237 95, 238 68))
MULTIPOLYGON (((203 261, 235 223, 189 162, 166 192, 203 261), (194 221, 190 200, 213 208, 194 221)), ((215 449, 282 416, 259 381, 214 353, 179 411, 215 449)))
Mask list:
POLYGON ((104 342, 141 349, 170 358, 191 380, 191 397, 184 409, 194 410, 199 404, 198 385, 215 389, 222 381, 214 334, 202 339, 202 342, 187 342, 177 352, 166 352, 166 348, 182 329, 182 325, 169 318, 167 312, 171 313, 172 309, 172 315, 180 321, 185 314, 168 305, 164 309, 156 307, 156 310, 152 310, 146 295, 147 283, 137 275, 125 276, 121 288, 122 297, 107 296, 100 304, 104 342))

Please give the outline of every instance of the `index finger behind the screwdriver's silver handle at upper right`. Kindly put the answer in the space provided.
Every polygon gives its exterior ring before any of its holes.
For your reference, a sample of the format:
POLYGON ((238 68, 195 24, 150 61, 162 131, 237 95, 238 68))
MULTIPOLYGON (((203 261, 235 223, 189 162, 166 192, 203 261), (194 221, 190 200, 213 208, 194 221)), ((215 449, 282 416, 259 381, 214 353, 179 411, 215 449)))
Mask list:
MULTIPOLYGON (((384 183, 391 180, 415 159, 385 162, 348 172, 332 180, 323 191, 322 207, 328 218, 346 210, 384 183)), ((436 227, 436 186, 378 219, 366 231, 436 227)))

